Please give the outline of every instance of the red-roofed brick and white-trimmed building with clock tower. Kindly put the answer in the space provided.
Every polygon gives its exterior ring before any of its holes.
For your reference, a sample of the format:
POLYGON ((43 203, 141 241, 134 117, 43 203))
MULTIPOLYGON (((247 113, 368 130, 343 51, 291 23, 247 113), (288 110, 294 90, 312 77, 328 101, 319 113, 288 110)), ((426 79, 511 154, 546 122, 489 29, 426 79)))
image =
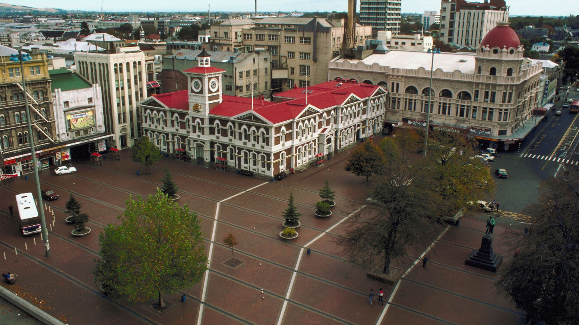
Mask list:
POLYGON ((273 176, 300 169, 380 131, 386 91, 369 84, 325 82, 263 97, 223 95, 223 69, 210 56, 184 71, 188 90, 140 102, 143 132, 162 152, 210 166, 273 176))

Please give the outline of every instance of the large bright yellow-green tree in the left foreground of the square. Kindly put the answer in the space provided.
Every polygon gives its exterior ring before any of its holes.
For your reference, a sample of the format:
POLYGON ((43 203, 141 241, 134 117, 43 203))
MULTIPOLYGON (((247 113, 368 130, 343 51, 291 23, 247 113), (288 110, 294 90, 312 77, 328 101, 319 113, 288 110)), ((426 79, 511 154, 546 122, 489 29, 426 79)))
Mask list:
POLYGON ((127 200, 121 224, 101 232, 93 274, 115 296, 142 302, 189 288, 203 278, 207 256, 195 212, 157 190, 146 201, 127 200))

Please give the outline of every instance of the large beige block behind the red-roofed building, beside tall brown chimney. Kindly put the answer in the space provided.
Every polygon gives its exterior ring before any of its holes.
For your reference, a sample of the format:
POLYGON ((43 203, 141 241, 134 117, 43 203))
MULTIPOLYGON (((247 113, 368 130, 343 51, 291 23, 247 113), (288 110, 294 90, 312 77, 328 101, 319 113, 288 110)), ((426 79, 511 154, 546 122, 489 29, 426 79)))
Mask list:
MULTIPOLYGON (((264 18, 244 28, 241 37, 246 51, 270 51, 275 93, 327 81, 328 61, 340 55, 344 28, 343 18, 264 18)), ((364 45, 371 32, 356 25, 354 47, 364 45)))

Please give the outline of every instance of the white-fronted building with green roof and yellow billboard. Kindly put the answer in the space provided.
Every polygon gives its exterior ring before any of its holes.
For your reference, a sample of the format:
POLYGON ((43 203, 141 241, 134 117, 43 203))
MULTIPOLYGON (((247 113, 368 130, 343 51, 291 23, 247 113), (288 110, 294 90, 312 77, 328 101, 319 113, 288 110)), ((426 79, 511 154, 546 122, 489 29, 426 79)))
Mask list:
POLYGON ((101 88, 67 69, 49 71, 52 108, 58 141, 63 144, 57 162, 86 159, 107 149, 101 88))

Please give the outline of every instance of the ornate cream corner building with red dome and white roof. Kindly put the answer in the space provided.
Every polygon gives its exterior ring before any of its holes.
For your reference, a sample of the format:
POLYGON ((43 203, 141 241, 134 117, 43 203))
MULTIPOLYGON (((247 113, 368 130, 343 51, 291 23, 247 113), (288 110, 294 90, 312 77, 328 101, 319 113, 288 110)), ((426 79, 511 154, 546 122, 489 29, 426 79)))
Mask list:
POLYGON ((329 62, 328 77, 385 88, 384 131, 395 132, 400 127, 426 127, 433 64, 431 130, 463 132, 474 136, 481 148, 516 150, 545 117, 544 110, 537 109, 543 96, 543 62, 523 56, 508 23, 497 23, 475 49, 434 54, 375 50, 360 60, 335 58, 329 62))

